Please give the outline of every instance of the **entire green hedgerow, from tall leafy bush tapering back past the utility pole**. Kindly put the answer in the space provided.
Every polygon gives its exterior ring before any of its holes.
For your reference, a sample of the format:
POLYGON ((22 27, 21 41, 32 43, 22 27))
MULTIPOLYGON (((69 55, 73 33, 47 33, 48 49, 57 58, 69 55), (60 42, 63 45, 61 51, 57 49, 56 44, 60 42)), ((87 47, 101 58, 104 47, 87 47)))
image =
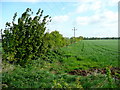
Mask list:
POLYGON ((17 24, 17 13, 14 14, 12 23, 6 23, 2 33, 3 60, 25 65, 38 57, 44 57, 50 50, 81 40, 81 37, 64 38, 58 31, 46 32, 46 24, 51 22, 51 17, 43 16, 41 9, 36 16, 32 16, 33 12, 27 8, 18 18, 17 24))

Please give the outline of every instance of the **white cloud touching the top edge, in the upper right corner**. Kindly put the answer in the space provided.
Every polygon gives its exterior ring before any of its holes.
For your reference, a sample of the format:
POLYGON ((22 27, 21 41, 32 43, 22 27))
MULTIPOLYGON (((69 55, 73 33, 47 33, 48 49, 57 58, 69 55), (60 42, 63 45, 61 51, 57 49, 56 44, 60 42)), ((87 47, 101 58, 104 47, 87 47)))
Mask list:
POLYGON ((76 13, 85 13, 87 11, 102 11, 109 6, 117 6, 119 0, 80 0, 76 13))

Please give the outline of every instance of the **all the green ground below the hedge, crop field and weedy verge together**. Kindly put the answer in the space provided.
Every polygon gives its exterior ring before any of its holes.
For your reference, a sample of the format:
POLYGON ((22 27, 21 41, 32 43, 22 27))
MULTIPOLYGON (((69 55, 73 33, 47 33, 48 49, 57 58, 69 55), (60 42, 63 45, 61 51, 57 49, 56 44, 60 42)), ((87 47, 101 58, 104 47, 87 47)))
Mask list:
POLYGON ((118 40, 82 40, 26 67, 3 62, 3 87, 118 88, 119 53, 118 40))

